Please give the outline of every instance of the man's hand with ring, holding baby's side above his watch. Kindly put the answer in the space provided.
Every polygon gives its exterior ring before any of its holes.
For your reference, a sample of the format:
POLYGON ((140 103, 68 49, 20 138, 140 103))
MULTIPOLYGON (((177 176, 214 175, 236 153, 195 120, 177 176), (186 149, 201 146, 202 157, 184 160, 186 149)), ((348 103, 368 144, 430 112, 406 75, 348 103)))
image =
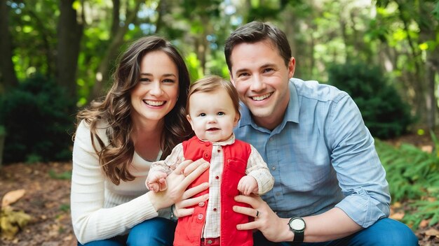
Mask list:
POLYGON ((254 222, 238 224, 238 230, 257 229, 264 234, 265 238, 272 242, 292 241, 293 233, 288 227, 288 219, 279 218, 262 198, 255 195, 235 196, 235 201, 247 203, 251 208, 234 206, 234 211, 243 215, 255 217, 254 222))

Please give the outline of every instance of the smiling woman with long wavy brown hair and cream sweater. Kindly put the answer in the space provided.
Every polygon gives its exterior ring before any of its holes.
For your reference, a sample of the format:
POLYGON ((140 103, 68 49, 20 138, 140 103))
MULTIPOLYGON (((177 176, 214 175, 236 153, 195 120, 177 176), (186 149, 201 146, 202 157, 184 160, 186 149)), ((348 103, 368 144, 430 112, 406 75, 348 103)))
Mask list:
POLYGON ((172 245, 170 205, 208 166, 188 161, 168 176, 168 189, 144 186, 149 166, 188 139, 184 106, 189 73, 163 38, 135 41, 122 55, 103 101, 79 112, 73 149, 72 223, 79 245, 172 245), (185 177, 184 167, 194 170, 185 177))

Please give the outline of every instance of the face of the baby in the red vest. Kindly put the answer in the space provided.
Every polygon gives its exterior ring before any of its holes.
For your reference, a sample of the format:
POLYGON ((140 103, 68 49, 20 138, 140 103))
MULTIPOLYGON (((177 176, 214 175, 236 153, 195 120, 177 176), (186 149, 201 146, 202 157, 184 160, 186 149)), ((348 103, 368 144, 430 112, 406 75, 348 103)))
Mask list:
POLYGON ((238 114, 229 94, 224 89, 217 89, 191 95, 187 120, 198 138, 220 142, 231 136, 238 123, 238 114))

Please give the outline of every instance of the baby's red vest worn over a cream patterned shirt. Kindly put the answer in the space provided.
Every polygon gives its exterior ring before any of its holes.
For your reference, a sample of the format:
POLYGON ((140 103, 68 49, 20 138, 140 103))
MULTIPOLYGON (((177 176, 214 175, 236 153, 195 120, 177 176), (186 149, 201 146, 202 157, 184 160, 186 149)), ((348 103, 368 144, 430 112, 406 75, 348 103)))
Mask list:
MULTIPOLYGON (((250 157, 250 145, 240 140, 235 140, 231 145, 222 146, 224 154, 224 164, 222 171, 222 180, 220 187, 221 203, 221 238, 222 246, 251 246, 253 237, 251 230, 238 231, 237 224, 249 222, 247 215, 241 215, 234 212, 234 205, 248 207, 245 203, 238 203, 234 197, 239 194, 238 182, 245 175, 248 157, 250 157)), ((212 143, 203 142, 194 136, 183 142, 184 159, 197 160, 200 158, 210 162, 212 154, 212 143)), ((209 182, 209 170, 200 175, 192 184, 187 187, 195 187, 203 182, 209 182)), ((207 194, 208 190, 203 191, 196 196, 207 194)), ((208 200, 209 201, 209 200, 208 200)), ((200 245, 200 240, 205 222, 208 201, 189 208, 194 208, 192 215, 178 219, 177 229, 175 229, 175 246, 192 246, 200 245)))

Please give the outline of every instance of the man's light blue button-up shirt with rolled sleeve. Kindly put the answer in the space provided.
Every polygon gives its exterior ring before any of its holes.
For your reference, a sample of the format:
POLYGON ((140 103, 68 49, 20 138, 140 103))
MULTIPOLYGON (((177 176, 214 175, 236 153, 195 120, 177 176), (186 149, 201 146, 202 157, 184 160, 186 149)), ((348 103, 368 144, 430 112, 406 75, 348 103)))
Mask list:
POLYGON ((368 227, 389 216, 389 184, 374 139, 351 97, 330 85, 292 78, 290 102, 273 131, 241 103, 236 138, 259 151, 275 179, 262 196, 279 217, 342 209, 368 227))

